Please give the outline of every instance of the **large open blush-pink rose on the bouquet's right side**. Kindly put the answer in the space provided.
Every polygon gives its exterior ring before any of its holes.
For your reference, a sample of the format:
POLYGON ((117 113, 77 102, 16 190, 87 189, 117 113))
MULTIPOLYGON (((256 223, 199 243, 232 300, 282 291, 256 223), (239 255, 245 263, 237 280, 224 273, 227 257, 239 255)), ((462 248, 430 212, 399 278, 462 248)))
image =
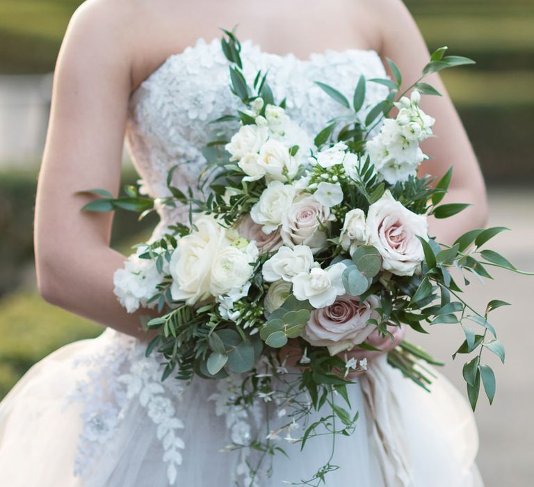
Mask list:
POLYGON ((382 267, 396 276, 413 276, 424 259, 417 238, 428 240, 426 215, 418 215, 394 200, 389 191, 367 212, 367 243, 382 255, 382 267))

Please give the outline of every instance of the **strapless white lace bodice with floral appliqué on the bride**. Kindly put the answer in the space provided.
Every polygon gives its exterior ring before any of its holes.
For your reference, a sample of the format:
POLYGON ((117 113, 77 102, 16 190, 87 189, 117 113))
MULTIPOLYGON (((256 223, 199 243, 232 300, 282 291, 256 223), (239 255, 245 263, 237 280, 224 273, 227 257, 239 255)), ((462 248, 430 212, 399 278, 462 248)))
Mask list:
MULTIPOLYGON (((270 54, 245 41, 241 57, 250 84, 259 69, 268 70, 275 100, 280 102, 286 97, 288 115, 311 136, 330 118, 348 113, 348 109, 334 102, 314 81, 330 84, 351 99, 361 74, 366 79, 386 76, 375 51, 327 50, 302 60, 292 54, 270 54)), ((168 170, 176 164, 179 169, 175 184, 185 189, 195 183, 206 163, 200 151, 209 141, 213 127, 208 122, 234 114, 241 104, 230 92, 228 83, 228 62, 219 40, 200 39, 193 47, 167 58, 133 93, 127 147, 147 194, 168 195, 165 184, 168 170)), ((385 86, 367 83, 362 116, 383 99, 385 91, 385 86)), ((227 122, 223 129, 236 129, 235 124, 227 122)), ((168 220, 168 209, 161 209, 161 216, 163 221, 168 220)), ((179 218, 178 214, 172 216, 179 218)))

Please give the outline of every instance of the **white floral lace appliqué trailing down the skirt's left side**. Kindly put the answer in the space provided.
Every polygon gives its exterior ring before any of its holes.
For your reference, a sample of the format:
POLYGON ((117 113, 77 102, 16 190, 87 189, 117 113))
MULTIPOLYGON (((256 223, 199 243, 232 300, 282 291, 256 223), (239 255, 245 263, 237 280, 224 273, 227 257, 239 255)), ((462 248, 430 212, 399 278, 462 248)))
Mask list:
POLYGON ((175 415, 173 400, 181 399, 184 386, 172 380, 162 383, 157 358, 145 357, 144 344, 119 333, 115 333, 104 353, 79 358, 75 366, 88 367, 87 380, 79 382, 68 398, 84 405, 75 474, 83 475, 92 468, 102 446, 113 440, 121 420, 137 400, 156 426, 168 481, 174 485, 182 462, 180 450, 185 445, 178 436, 184 423, 175 415))

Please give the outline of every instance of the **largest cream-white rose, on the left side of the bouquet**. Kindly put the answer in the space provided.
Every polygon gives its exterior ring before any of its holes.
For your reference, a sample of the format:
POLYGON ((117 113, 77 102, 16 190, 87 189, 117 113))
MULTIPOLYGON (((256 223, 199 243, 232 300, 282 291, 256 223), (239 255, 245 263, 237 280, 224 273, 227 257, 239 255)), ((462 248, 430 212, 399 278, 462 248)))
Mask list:
POLYGON ((172 299, 194 305, 211 298, 210 277, 218 250, 228 246, 225 228, 215 219, 201 216, 197 230, 182 237, 170 259, 172 299))

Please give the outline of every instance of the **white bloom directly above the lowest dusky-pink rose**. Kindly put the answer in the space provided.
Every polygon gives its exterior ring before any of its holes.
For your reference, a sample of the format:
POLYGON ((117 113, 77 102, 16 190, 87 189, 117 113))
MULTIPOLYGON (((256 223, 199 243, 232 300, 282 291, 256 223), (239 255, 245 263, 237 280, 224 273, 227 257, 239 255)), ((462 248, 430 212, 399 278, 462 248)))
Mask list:
POLYGON ((293 295, 299 301, 308 300, 316 309, 330 306, 337 296, 345 294, 341 276, 346 269, 339 262, 327 269, 312 267, 309 272, 302 272, 293 278, 293 295))

